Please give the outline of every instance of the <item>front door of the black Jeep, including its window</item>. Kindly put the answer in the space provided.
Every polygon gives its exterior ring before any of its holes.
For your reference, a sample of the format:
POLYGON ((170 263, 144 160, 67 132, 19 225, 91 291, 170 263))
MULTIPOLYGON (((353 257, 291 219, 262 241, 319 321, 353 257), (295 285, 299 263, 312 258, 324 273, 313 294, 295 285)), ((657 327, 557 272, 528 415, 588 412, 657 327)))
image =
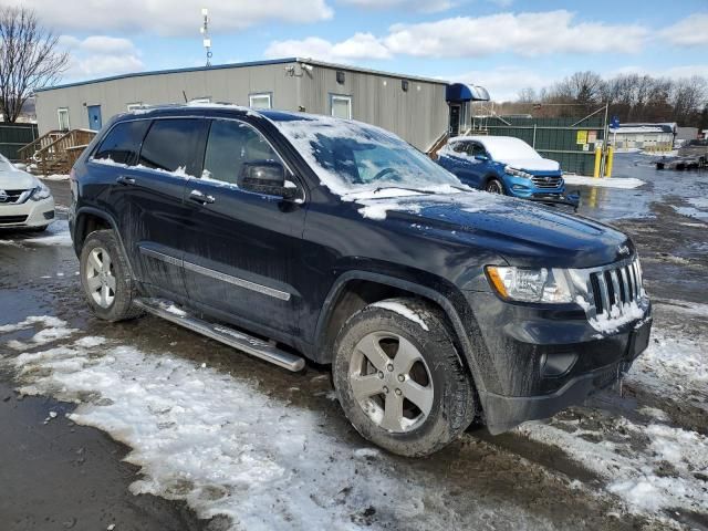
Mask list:
POLYGON ((211 122, 202 177, 190 179, 186 189, 191 214, 185 282, 192 301, 225 312, 236 324, 293 335, 300 295, 291 267, 304 210, 237 186, 244 163, 273 160, 282 159, 251 125, 211 122))

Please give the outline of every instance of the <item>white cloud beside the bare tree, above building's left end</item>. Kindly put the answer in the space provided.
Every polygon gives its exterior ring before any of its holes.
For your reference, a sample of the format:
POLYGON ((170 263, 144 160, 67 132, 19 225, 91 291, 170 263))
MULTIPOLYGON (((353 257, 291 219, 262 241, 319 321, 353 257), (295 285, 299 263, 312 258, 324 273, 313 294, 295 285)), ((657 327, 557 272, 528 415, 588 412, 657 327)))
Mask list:
POLYGON ((70 81, 139 72, 145 69, 140 52, 128 39, 91 35, 84 40, 62 35, 59 45, 70 53, 70 81))

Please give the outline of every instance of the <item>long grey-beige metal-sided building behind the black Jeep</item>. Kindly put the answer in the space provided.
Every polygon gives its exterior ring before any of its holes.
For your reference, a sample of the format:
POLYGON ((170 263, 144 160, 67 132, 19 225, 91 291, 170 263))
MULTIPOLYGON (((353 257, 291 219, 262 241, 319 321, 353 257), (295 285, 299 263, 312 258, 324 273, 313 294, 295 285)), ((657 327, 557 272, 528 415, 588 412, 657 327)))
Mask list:
MULTIPOLYGON (((40 135, 53 129, 95 131, 111 116, 142 105, 225 102, 353 118, 392 131, 427 152, 448 133, 450 118, 458 122, 458 129, 465 123, 457 104, 468 103, 449 102, 449 86, 440 80, 293 58, 49 87, 37 93, 37 119, 40 135)), ((462 93, 457 97, 467 97, 462 93)))

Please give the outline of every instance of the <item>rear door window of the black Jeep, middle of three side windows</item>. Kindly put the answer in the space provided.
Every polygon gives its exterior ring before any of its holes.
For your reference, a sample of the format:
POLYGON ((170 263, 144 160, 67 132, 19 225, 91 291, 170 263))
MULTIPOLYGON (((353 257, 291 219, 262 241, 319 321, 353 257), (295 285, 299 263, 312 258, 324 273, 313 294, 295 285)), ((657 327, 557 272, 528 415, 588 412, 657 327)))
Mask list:
POLYGON ((154 121, 143 142, 139 164, 153 169, 197 175, 206 121, 198 118, 154 121))

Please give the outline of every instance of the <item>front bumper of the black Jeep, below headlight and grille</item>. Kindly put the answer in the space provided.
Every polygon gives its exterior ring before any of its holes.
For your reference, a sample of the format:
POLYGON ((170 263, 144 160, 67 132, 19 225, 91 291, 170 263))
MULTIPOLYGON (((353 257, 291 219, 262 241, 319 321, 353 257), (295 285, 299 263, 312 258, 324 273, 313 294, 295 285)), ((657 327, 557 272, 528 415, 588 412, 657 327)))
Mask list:
POLYGON ((481 331, 486 424, 499 434, 582 404, 616 382, 648 346, 652 308, 612 333, 598 333, 575 304, 510 304, 492 293, 469 293, 481 331))

